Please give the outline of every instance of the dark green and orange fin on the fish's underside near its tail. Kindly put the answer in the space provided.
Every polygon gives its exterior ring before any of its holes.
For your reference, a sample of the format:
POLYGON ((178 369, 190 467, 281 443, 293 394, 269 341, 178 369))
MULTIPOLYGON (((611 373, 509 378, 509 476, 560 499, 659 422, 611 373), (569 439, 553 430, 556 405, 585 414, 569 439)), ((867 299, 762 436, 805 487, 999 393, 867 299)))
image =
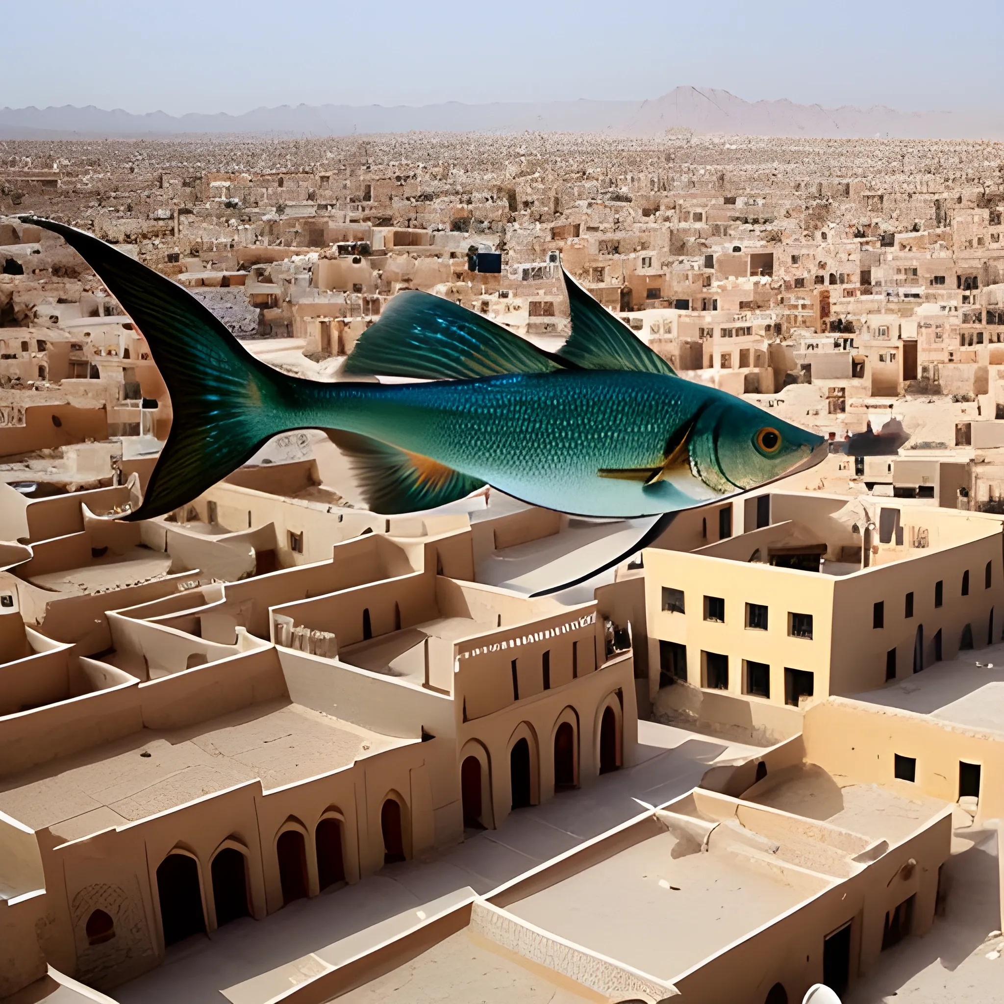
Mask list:
POLYGON ((477 478, 368 436, 334 429, 327 436, 348 458, 366 505, 384 516, 435 509, 485 487, 477 478))

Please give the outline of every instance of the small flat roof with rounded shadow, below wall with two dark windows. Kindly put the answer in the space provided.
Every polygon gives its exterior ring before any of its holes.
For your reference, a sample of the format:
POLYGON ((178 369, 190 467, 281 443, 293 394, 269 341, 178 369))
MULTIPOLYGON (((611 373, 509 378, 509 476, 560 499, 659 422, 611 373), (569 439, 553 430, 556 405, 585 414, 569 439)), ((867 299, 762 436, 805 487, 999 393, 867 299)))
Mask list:
POLYGON ((848 783, 815 764, 770 774, 743 798, 891 844, 905 840, 945 807, 926 795, 907 798, 877 784, 848 783))

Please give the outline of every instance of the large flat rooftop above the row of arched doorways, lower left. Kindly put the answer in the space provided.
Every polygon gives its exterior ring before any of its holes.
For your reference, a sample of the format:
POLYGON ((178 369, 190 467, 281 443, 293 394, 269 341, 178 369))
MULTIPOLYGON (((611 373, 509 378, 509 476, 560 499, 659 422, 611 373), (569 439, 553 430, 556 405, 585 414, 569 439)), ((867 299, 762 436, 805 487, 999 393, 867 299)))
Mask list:
POLYGON ((144 729, 2 778, 0 811, 75 840, 255 778, 277 788, 408 742, 272 702, 181 729, 144 729))

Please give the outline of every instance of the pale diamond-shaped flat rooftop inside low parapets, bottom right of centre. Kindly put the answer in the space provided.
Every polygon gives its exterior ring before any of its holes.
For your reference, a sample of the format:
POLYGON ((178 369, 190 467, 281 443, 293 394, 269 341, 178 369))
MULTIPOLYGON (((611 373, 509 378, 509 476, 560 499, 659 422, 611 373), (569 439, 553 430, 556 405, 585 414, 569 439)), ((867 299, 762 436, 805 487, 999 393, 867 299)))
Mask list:
POLYGON ((824 889, 798 888, 742 853, 651 836, 505 909, 544 931, 672 982, 824 889))

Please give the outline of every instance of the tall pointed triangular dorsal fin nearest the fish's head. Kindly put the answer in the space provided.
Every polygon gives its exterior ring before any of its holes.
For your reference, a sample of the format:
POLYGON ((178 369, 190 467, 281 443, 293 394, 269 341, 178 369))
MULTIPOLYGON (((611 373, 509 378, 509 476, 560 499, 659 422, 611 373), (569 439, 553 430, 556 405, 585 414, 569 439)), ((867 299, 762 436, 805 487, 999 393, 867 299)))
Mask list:
POLYGON ((571 336, 557 353, 562 359, 583 369, 633 369, 676 376, 666 359, 594 300, 564 269, 562 273, 571 308, 571 336))

